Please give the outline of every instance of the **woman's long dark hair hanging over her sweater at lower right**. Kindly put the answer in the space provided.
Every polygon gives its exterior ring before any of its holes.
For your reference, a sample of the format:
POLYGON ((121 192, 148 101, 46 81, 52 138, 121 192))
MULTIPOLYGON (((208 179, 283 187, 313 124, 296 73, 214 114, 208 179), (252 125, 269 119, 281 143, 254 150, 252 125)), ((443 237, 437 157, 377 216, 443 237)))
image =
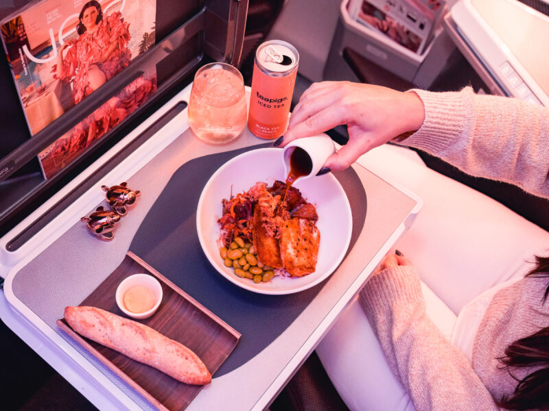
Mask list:
MULTIPOLYGON (((549 278, 549 257, 536 256, 535 269, 526 277, 549 278)), ((547 302, 549 284, 545 290, 542 303, 547 302)), ((540 366, 537 371, 517 379, 517 388, 510 397, 503 397, 498 406, 509 410, 532 410, 549 408, 549 327, 520 338, 505 349, 505 356, 500 358, 513 378, 513 368, 540 366)))

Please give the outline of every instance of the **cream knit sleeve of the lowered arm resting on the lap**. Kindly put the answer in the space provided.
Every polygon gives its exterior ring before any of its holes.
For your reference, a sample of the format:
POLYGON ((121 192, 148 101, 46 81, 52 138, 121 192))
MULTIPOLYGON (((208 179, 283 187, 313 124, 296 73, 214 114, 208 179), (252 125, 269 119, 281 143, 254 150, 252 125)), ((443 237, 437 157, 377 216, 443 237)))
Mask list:
POLYGON ((374 275, 360 292, 360 303, 417 411, 498 410, 467 358, 425 314, 414 267, 374 275))

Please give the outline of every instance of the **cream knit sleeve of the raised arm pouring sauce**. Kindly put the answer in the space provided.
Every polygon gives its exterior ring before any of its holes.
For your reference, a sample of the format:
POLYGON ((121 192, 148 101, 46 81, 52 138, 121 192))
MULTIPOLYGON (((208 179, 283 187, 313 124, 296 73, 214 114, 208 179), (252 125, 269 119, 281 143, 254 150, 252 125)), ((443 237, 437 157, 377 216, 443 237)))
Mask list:
POLYGON ((415 92, 421 128, 402 145, 427 151, 465 173, 515 184, 549 198, 549 109, 511 97, 415 92))

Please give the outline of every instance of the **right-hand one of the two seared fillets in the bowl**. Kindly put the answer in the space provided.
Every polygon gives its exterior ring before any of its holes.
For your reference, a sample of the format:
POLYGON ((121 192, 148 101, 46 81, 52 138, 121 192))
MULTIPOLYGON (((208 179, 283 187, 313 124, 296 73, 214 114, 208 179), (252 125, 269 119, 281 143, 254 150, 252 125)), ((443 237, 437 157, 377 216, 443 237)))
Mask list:
POLYGON ((281 225, 280 255, 286 271, 294 277, 316 269, 320 232, 312 221, 293 218, 281 225))

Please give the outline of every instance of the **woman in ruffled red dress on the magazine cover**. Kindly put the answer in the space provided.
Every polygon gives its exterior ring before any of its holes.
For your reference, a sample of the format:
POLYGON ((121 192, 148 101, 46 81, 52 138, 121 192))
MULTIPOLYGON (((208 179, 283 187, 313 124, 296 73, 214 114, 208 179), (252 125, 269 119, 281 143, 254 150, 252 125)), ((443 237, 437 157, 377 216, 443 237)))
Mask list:
MULTIPOLYGON (((120 12, 104 16, 96 0, 84 4, 77 26, 79 37, 60 47, 57 64, 52 68, 61 82, 71 83, 74 104, 130 64, 132 52, 128 48, 131 37, 129 26, 120 12)), ((49 178, 71 164, 95 140, 102 138, 141 107, 155 90, 156 73, 148 71, 89 113, 40 153, 45 177, 49 178)))

